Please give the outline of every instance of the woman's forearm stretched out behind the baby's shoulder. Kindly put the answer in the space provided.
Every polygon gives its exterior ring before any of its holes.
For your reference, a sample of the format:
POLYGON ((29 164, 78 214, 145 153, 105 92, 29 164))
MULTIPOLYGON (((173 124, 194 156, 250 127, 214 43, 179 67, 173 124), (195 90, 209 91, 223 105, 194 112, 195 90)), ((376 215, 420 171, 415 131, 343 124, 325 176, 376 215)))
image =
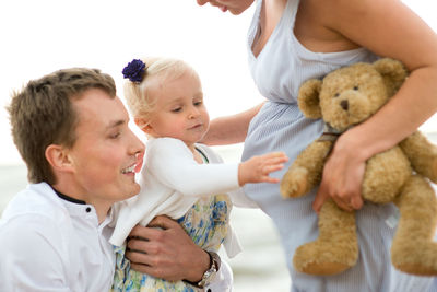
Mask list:
POLYGON ((246 112, 211 120, 210 130, 201 141, 206 145, 225 145, 244 142, 250 120, 258 114, 259 104, 246 112))

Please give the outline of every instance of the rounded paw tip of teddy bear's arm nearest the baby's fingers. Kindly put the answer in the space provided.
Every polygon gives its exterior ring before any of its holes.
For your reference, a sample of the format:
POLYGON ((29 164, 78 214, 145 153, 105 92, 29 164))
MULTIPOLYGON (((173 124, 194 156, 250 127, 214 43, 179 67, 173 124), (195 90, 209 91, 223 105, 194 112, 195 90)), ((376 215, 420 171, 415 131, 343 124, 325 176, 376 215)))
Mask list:
POLYGON ((284 198, 297 198, 308 192, 307 185, 308 170, 292 167, 282 178, 280 190, 284 198))

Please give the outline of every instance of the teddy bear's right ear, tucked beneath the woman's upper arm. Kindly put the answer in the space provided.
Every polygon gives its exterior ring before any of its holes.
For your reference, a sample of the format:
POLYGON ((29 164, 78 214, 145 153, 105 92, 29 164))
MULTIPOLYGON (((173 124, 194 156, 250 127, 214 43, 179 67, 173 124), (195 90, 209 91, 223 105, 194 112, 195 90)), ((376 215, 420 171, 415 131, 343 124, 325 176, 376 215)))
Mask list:
POLYGON ((389 58, 377 60, 374 62, 374 68, 382 75, 390 95, 394 95, 409 75, 402 62, 389 58))

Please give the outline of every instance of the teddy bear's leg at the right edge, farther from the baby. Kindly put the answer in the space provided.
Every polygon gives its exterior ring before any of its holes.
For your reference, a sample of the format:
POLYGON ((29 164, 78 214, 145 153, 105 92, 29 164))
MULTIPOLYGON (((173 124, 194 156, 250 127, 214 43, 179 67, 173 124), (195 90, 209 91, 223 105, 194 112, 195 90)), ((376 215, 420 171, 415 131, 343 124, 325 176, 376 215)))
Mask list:
POLYGON ((391 246, 391 261, 401 271, 437 276, 437 199, 428 182, 412 176, 395 203, 401 217, 391 246))

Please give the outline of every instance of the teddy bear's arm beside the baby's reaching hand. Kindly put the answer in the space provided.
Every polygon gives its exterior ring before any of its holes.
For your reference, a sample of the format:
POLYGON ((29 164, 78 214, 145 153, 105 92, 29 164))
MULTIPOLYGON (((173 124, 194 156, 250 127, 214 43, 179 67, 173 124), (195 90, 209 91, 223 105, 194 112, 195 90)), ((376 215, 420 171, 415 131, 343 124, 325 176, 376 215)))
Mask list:
POLYGON ((331 147, 332 141, 316 140, 296 157, 281 182, 284 198, 304 196, 320 183, 331 147))

